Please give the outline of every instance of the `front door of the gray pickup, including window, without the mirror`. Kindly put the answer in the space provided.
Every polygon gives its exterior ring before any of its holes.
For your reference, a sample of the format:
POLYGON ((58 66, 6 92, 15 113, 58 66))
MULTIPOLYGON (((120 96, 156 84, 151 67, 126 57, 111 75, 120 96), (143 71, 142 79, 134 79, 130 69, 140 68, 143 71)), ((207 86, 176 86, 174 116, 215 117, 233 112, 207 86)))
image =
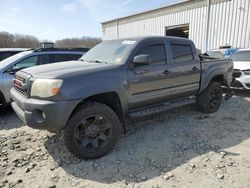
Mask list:
POLYGON ((132 59, 138 55, 148 55, 151 62, 139 66, 134 64, 128 72, 130 109, 164 102, 170 96, 171 82, 167 71, 169 65, 165 41, 144 43, 136 50, 132 59))

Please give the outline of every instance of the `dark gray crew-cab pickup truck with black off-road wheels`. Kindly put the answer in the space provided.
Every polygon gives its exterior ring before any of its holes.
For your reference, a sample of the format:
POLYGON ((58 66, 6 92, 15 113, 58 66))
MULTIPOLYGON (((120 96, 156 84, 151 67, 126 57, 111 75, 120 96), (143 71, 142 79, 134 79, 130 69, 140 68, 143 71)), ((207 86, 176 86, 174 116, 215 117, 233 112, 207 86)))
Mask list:
POLYGON ((188 39, 105 41, 79 61, 17 72, 12 107, 30 127, 64 130, 77 157, 97 158, 114 148, 129 118, 195 102, 216 112, 232 70, 231 60, 199 57, 188 39))

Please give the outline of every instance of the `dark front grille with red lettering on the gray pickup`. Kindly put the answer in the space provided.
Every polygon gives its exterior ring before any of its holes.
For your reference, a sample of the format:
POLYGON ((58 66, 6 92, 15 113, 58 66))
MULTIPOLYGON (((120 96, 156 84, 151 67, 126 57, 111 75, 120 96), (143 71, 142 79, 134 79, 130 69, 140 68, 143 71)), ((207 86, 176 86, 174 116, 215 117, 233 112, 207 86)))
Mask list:
POLYGON ((27 80, 25 78, 15 75, 14 89, 24 97, 28 98, 29 88, 27 87, 27 80))

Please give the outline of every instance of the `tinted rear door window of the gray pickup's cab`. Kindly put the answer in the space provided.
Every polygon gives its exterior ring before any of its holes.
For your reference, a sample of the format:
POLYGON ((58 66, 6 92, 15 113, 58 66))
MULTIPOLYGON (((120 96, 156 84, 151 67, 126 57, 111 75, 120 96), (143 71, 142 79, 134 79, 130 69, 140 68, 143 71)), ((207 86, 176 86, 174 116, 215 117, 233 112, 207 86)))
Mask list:
POLYGON ((171 44, 173 60, 176 63, 192 61, 194 59, 190 45, 171 44))

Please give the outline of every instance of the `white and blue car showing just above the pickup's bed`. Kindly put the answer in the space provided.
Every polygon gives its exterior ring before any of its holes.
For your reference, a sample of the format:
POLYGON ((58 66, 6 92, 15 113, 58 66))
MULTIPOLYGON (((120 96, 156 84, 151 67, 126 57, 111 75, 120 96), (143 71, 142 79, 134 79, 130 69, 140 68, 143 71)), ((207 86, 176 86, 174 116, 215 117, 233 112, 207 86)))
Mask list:
POLYGON ((229 58, 232 56, 239 48, 221 48, 221 49, 214 49, 207 51, 206 54, 208 54, 210 57, 215 58, 229 58))

